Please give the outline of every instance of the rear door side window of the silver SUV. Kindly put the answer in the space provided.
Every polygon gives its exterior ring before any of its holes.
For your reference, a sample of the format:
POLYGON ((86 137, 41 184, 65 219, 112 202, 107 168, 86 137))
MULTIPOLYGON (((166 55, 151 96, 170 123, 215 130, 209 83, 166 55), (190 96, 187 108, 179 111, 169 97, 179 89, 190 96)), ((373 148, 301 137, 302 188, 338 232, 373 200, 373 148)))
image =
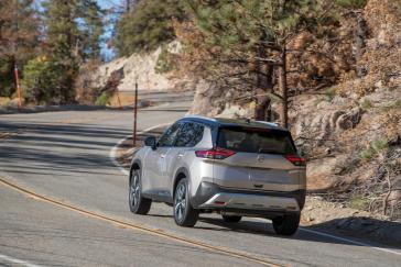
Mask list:
POLYGON ((204 126, 198 123, 186 122, 180 130, 175 146, 192 147, 201 142, 204 135, 204 126))

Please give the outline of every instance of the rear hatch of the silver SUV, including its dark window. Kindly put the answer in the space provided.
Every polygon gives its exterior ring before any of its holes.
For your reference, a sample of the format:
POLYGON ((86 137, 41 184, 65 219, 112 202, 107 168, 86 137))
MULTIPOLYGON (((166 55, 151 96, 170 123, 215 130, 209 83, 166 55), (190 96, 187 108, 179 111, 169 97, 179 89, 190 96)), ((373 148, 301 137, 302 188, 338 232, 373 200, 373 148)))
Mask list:
POLYGON ((300 189, 304 160, 288 131, 224 126, 217 149, 228 156, 214 160, 215 182, 232 189, 293 191, 300 189))

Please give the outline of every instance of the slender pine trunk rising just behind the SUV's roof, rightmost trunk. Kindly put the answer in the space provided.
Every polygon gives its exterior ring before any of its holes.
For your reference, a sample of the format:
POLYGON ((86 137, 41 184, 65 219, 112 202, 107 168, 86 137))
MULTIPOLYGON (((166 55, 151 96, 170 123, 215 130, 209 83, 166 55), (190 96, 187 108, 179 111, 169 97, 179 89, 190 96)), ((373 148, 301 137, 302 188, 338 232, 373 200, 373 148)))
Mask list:
POLYGON ((289 126, 289 101, 288 101, 288 88, 286 88, 286 51, 285 46, 281 52, 281 65, 279 71, 279 87, 282 97, 282 103, 280 109, 280 120, 283 127, 289 126))

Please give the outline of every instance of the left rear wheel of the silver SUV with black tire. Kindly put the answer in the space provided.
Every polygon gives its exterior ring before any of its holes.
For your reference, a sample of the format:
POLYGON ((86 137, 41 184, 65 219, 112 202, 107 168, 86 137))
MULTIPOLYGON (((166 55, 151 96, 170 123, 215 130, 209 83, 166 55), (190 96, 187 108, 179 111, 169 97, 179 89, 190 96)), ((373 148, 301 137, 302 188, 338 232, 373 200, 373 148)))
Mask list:
POLYGON ((178 181, 174 191, 174 221, 180 226, 192 227, 199 218, 199 212, 195 210, 188 199, 188 179, 178 181))

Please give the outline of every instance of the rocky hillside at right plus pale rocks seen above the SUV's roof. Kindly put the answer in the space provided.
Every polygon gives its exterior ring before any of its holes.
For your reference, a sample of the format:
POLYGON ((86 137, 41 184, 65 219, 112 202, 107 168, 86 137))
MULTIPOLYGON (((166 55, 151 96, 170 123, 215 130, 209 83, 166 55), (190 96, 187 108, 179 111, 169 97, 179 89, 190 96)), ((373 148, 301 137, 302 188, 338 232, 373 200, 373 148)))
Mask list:
MULTIPOLYGON (((370 0, 357 18, 362 29, 355 20, 343 20, 338 34, 349 42, 336 47, 334 63, 289 58, 289 65, 294 59, 305 64, 305 76, 339 77, 330 87, 292 99, 290 127, 308 159, 311 191, 401 219, 401 2, 370 0)), ((294 43, 305 38, 297 36, 294 43)), ((300 79, 290 77, 289 84, 300 79)), ((252 116, 254 103, 240 99, 235 91, 201 82, 192 112, 252 116)))

